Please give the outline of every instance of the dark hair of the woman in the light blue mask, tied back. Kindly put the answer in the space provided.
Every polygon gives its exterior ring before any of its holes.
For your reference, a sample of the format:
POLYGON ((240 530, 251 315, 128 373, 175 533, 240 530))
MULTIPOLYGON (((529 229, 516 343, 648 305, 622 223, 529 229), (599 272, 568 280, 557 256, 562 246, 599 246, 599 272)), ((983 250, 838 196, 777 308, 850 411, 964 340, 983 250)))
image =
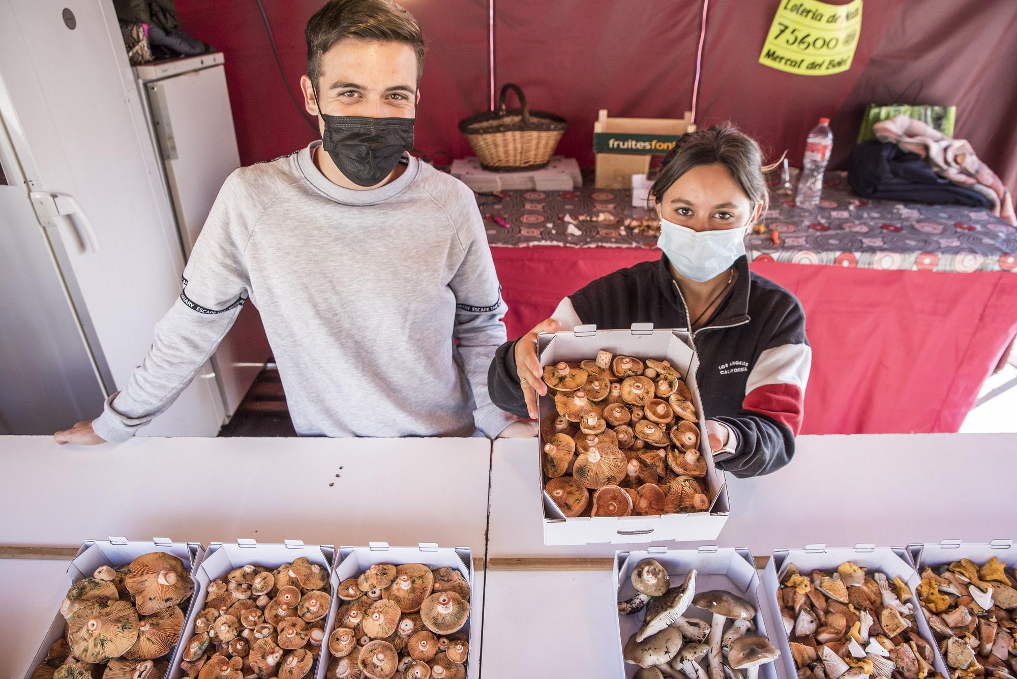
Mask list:
POLYGON ((721 123, 709 129, 686 132, 664 157, 657 180, 650 188, 656 202, 683 174, 701 165, 722 165, 731 173, 741 190, 755 206, 763 203, 766 210, 769 193, 763 179, 763 151, 751 136, 731 123, 721 123))

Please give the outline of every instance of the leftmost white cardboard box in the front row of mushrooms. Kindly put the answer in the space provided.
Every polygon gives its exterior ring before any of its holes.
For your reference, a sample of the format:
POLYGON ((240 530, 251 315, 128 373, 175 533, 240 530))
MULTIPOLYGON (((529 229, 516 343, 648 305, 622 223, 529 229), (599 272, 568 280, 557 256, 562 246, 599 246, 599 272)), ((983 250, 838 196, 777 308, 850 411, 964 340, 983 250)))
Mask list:
MULTIPOLYGON (((36 657, 33 659, 32 665, 27 668, 27 672, 24 675, 25 679, 31 679, 32 674, 36 671, 36 668, 46 660, 46 654, 49 651, 50 645, 63 636, 64 623, 66 623, 66 620, 64 620, 64 617, 60 614, 58 609, 60 602, 67 594, 67 590, 69 590, 74 582, 77 582, 85 577, 92 577, 92 574, 96 572, 96 569, 100 566, 109 565, 114 568, 119 568, 120 566, 130 563, 142 554, 148 554, 151 552, 166 552, 167 554, 172 554, 177 557, 184 562, 184 566, 187 568, 187 571, 190 573, 192 578, 195 574, 195 568, 203 558, 201 545, 197 543, 173 542, 169 538, 154 538, 152 542, 129 541, 126 538, 110 538, 106 541, 86 540, 81 545, 80 549, 77 551, 77 555, 74 557, 74 560, 71 561, 70 566, 67 567, 67 575, 69 576, 67 587, 64 592, 60 593, 60 598, 56 599, 54 602, 56 615, 53 618, 53 624, 50 625, 50 629, 46 632, 46 637, 43 639, 42 645, 36 653, 36 657)), ((184 610, 185 620, 190 618, 191 610, 194 608, 195 601, 197 601, 196 580, 194 583, 194 593, 191 594, 190 601, 187 603, 187 608, 184 610)), ((176 646, 170 650, 168 658, 171 668, 177 664, 177 659, 181 653, 180 649, 181 644, 177 643, 176 646)))

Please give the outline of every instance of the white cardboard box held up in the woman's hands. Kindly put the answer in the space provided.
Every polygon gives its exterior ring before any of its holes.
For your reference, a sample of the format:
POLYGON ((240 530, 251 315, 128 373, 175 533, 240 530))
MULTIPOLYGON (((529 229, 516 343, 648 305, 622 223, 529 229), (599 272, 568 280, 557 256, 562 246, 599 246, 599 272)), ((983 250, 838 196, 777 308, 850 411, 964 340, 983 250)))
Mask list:
MULTIPOLYGON (((703 542, 715 540, 720 535, 730 512, 727 484, 724 473, 713 464, 707 440, 703 413, 696 384, 699 359, 690 346, 689 333, 679 330, 654 330, 650 323, 633 325, 629 330, 598 330, 595 325, 580 325, 571 332, 542 333, 538 338, 540 365, 559 361, 575 362, 594 359, 597 352, 606 350, 614 356, 632 356, 640 360, 666 359, 685 378, 693 394, 693 404, 699 415, 700 453, 707 465, 703 480, 709 489, 712 504, 708 511, 689 514, 662 514, 659 516, 578 516, 566 518, 554 501, 544 491, 544 476, 540 465, 543 437, 539 437, 534 469, 544 501, 544 544, 583 545, 588 543, 639 543, 657 540, 703 542)), ((544 396, 539 403, 538 422, 548 413, 555 413, 554 399, 544 396)))

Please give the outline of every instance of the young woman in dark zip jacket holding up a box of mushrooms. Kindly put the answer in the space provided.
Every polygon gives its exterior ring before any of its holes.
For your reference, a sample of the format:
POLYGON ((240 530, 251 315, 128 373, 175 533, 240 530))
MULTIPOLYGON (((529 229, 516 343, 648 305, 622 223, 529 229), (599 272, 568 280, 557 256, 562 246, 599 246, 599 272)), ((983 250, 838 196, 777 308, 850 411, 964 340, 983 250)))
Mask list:
POLYGON ((794 454, 812 350, 797 299, 749 270, 744 236, 767 207, 759 144, 729 124, 682 135, 652 188, 663 256, 594 281, 551 318, 502 345, 491 363, 492 400, 537 415, 540 332, 593 323, 692 330, 707 432, 721 469, 759 476, 794 454))

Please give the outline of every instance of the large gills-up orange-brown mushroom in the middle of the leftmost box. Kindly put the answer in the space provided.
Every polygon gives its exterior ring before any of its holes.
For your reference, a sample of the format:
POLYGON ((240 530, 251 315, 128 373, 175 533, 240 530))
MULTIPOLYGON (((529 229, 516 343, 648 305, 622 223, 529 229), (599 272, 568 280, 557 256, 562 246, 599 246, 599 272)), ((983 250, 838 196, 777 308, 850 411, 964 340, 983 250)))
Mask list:
POLYGON ((67 642, 74 658, 103 663, 119 658, 134 644, 137 625, 137 612, 130 602, 86 604, 67 621, 67 642))

